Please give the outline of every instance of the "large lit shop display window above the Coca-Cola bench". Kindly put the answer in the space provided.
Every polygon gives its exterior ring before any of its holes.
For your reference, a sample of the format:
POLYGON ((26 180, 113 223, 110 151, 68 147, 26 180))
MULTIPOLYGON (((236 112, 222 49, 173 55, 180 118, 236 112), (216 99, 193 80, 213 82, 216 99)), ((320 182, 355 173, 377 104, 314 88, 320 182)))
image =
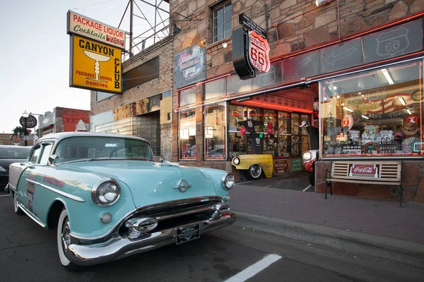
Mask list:
POLYGON ((422 65, 319 82, 322 157, 422 155, 422 65))

